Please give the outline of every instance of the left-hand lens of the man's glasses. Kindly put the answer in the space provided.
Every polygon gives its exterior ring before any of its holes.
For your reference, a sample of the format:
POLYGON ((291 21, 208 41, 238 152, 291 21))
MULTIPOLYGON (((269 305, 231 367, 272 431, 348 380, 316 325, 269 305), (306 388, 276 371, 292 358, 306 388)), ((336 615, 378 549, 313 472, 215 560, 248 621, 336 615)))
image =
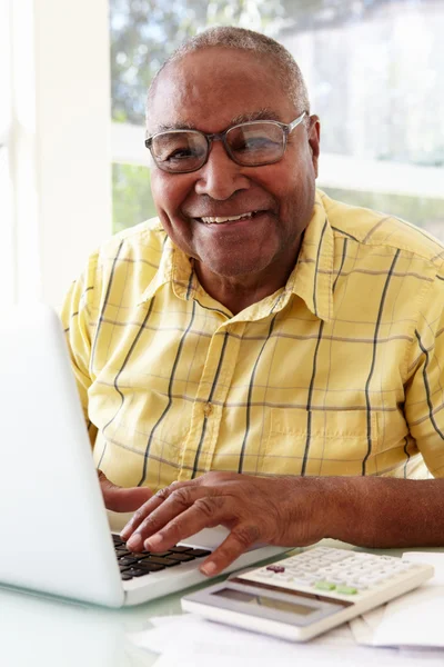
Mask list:
POLYGON ((200 132, 174 130, 155 135, 151 149, 161 169, 184 172, 202 167, 206 158, 208 143, 200 132))

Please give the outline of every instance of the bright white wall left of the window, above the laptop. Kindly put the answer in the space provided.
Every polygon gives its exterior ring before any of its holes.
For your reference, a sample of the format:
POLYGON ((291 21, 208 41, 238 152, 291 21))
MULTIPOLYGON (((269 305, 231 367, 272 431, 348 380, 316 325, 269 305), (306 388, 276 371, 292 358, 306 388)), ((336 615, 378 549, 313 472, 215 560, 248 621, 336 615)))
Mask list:
POLYGON ((10 7, 11 289, 58 307, 111 233, 108 0, 10 7))

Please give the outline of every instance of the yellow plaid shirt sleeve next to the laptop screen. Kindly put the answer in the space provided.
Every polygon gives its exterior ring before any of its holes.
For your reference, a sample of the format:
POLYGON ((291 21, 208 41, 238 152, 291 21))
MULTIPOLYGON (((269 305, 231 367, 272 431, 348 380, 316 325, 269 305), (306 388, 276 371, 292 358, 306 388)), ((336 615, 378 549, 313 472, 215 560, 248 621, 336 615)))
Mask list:
POLYGON ((87 270, 70 286, 60 313, 91 446, 95 442, 97 427, 89 418, 88 390, 94 379, 90 369, 99 293, 98 257, 92 256, 87 270))

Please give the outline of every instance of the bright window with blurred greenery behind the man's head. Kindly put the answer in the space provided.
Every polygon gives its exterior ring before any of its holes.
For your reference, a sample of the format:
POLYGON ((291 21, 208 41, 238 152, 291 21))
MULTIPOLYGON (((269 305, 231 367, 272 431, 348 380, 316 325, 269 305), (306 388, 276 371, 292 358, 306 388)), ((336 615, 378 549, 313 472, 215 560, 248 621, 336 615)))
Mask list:
POLYGON ((154 213, 143 108, 183 40, 213 24, 260 30, 299 62, 321 117, 319 186, 444 240, 441 0, 110 0, 113 227, 154 213), (124 149, 122 148, 124 146, 124 149))

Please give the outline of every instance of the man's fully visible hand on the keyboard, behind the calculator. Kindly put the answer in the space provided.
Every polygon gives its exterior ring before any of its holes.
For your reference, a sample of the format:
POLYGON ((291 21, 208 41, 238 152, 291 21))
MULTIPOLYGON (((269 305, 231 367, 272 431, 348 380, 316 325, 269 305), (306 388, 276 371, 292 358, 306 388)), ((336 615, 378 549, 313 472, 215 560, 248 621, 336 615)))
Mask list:
POLYGON ((134 551, 164 551, 202 528, 223 525, 230 535, 201 567, 215 575, 254 542, 292 547, 325 537, 323 482, 208 472, 155 494, 135 511, 121 537, 134 551))

